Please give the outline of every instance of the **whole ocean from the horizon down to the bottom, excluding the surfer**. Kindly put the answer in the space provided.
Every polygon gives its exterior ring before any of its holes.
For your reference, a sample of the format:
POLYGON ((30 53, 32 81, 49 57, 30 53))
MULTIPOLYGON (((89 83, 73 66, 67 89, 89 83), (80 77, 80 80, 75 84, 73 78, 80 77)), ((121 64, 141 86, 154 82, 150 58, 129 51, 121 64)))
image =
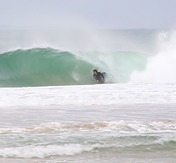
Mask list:
POLYGON ((1 30, 0 162, 175 163, 175 42, 166 29, 1 30))

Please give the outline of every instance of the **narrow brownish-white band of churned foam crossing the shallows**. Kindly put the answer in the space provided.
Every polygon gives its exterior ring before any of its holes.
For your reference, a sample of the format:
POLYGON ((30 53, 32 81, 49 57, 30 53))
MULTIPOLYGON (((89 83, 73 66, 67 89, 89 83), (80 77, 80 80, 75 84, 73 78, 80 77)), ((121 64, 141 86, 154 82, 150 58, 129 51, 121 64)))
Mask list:
POLYGON ((155 121, 94 121, 94 122, 48 122, 26 128, 0 128, 1 134, 48 134, 69 132, 91 132, 91 131, 116 131, 117 133, 176 133, 175 120, 155 121))

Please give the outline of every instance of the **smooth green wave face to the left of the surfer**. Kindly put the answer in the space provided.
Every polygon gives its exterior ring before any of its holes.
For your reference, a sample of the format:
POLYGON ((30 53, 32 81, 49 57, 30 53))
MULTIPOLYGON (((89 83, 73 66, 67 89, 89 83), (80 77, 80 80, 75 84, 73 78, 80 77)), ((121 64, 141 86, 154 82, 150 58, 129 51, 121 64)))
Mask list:
POLYGON ((88 84, 93 65, 69 52, 50 48, 10 51, 0 55, 1 86, 88 84))

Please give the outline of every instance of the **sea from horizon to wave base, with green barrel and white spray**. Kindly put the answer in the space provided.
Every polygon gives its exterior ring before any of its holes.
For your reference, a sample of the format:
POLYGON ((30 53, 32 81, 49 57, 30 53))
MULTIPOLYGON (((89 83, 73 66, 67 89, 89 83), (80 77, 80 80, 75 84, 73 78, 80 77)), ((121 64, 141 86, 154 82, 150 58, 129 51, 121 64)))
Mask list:
POLYGON ((6 30, 0 35, 0 86, 94 84, 94 68, 106 72, 107 83, 176 81, 173 31, 6 30))

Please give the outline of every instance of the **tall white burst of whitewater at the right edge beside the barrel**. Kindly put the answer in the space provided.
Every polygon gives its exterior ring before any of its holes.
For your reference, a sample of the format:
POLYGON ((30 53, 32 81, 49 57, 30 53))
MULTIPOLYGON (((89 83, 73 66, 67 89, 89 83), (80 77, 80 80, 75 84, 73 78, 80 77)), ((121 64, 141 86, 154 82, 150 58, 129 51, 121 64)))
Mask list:
POLYGON ((132 82, 176 83, 176 32, 161 32, 158 35, 158 50, 149 60, 144 72, 134 72, 132 82))

